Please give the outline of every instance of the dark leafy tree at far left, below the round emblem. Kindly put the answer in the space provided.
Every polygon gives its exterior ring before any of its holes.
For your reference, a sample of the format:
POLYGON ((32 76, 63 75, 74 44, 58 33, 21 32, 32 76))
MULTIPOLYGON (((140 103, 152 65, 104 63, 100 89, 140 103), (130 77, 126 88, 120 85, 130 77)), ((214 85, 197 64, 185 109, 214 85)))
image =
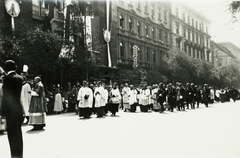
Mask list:
POLYGON ((34 75, 56 74, 62 38, 24 21, 18 21, 16 26, 14 32, 7 29, 3 36, 4 59, 13 59, 20 67, 28 65, 34 75))

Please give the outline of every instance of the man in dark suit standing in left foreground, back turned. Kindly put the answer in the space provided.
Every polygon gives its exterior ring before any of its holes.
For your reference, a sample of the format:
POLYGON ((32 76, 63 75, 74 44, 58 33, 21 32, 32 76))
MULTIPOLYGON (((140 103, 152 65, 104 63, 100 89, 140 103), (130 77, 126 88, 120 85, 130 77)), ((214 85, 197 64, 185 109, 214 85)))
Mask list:
POLYGON ((13 60, 5 62, 6 75, 3 79, 2 115, 7 121, 7 135, 10 144, 11 156, 23 156, 22 121, 23 107, 20 102, 23 78, 16 73, 16 64, 13 60))

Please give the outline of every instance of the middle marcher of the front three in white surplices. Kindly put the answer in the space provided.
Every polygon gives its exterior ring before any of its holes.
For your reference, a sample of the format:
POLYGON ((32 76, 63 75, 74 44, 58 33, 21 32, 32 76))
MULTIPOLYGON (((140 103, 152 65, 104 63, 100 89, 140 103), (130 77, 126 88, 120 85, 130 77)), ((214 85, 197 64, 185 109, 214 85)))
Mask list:
POLYGON ((98 81, 97 87, 94 90, 94 97, 95 97, 95 110, 97 117, 103 117, 105 114, 105 91, 102 87, 101 81, 98 81))

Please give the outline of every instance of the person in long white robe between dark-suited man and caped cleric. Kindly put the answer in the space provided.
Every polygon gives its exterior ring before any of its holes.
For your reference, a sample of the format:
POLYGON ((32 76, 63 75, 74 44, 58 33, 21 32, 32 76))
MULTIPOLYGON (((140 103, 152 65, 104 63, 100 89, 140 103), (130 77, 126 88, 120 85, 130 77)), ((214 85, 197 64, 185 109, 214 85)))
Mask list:
POLYGON ((31 91, 30 84, 27 83, 27 78, 23 77, 23 86, 21 91, 21 103, 23 106, 24 111, 24 117, 27 119, 27 121, 24 124, 28 124, 29 122, 29 106, 31 102, 31 94, 29 93, 31 91))

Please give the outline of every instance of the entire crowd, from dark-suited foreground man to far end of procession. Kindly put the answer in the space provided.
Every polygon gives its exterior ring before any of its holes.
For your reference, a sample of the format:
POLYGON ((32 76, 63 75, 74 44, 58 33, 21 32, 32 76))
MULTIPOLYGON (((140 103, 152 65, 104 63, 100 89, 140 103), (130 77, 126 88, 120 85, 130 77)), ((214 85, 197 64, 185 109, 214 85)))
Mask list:
MULTIPOLYGON (((0 121, 6 120, 6 130, 10 144, 11 156, 22 157, 23 140, 22 124, 33 126, 32 130, 42 130, 46 125, 46 114, 56 114, 75 109, 79 117, 90 118, 92 115, 104 117, 109 112, 116 116, 119 109, 124 112, 165 110, 173 112, 199 108, 200 103, 206 107, 215 101, 226 102, 239 99, 239 91, 232 87, 217 90, 204 84, 203 87, 177 82, 154 84, 141 83, 139 86, 106 85, 98 81, 89 84, 83 81, 67 93, 61 91, 60 85, 50 92, 36 76, 33 84, 29 84, 26 74, 16 73, 16 64, 12 60, 5 62, 5 71, 0 67, 0 121), (24 122, 26 119, 26 122, 24 122)), ((2 123, 1 123, 2 124, 2 123)), ((2 126, 1 126, 2 127, 2 126)))

